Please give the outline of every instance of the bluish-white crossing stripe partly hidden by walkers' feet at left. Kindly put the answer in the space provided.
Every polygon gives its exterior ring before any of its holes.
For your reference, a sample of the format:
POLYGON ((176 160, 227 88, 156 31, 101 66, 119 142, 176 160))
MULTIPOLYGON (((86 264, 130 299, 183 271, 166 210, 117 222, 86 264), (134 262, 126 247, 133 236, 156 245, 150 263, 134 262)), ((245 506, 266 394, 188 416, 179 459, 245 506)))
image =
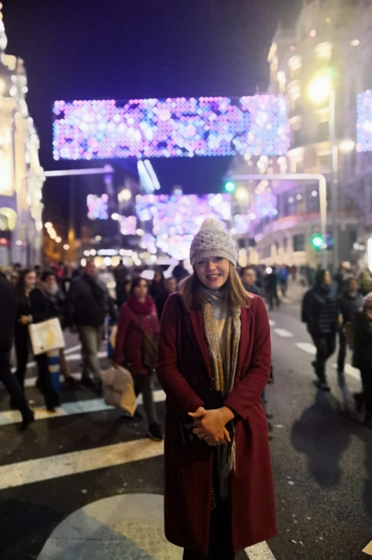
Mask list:
MULTIPOLYGON (((154 391, 153 398, 155 402, 164 402, 166 395, 162 389, 154 391)), ((138 395, 138 405, 143 404, 142 395, 138 395)), ((92 398, 87 400, 75 400, 72 402, 64 402, 64 404, 56 409, 56 412, 48 412, 45 407, 35 408, 35 419, 45 420, 50 418, 58 418, 59 416, 71 416, 72 414, 87 414, 89 412, 102 412, 103 410, 111 410, 105 404, 103 398, 92 398)), ((0 426, 8 426, 21 421, 21 414, 17 410, 5 410, 0 412, 0 426)))

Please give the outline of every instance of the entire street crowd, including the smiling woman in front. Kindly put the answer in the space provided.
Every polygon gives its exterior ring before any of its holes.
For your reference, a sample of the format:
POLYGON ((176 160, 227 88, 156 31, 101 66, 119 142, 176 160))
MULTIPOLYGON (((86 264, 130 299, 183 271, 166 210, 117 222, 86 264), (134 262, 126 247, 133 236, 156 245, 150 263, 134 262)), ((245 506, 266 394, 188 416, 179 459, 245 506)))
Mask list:
MULTIPOLYGON (((0 274, 0 381, 10 405, 22 414, 23 428, 34 421, 24 395, 30 325, 57 318, 62 329, 76 332, 83 362, 79 385, 100 394, 99 349, 109 316, 116 326, 113 368, 131 372, 134 392, 143 396, 148 437, 161 441, 152 387, 156 370, 167 397, 166 536, 185 549, 184 560, 208 553, 233 559, 234 551, 276 532, 265 414, 272 367, 263 299, 270 309, 278 307, 297 269, 248 265, 237 271, 236 260, 227 232, 206 221, 192 242, 192 274, 180 262, 174 276, 164 278, 157 267, 149 282, 120 262, 104 276, 93 260, 75 271, 62 265, 45 270, 15 265, 0 274), (106 277, 115 279, 115 297, 106 277), (15 374, 10 370, 12 347, 15 374), (199 507, 194 507, 196 498, 199 507), (249 517, 242 512, 250 512, 249 517), (233 534, 227 530, 231 521, 233 534)), ((355 400, 364 423, 372 427, 372 274, 367 268, 358 277, 343 269, 333 277, 325 269, 303 273, 311 285, 302 320, 316 348, 319 388, 329 391, 326 365, 338 337, 338 383, 345 386, 350 347, 363 389, 355 400)), ((59 393, 51 381, 48 353, 34 358, 38 388, 53 414, 59 393)), ((64 382, 77 386, 63 349, 59 360, 64 382)), ((134 419, 143 419, 138 409, 134 419)))

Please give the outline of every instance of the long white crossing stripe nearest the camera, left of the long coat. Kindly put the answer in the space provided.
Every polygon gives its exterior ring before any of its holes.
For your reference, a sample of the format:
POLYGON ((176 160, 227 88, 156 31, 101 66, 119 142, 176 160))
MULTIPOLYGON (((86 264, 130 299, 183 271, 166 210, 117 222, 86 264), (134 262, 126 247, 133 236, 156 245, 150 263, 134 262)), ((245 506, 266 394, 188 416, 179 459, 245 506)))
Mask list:
POLYGON ((0 490, 143 461, 163 453, 162 442, 143 439, 11 463, 0 467, 0 490))

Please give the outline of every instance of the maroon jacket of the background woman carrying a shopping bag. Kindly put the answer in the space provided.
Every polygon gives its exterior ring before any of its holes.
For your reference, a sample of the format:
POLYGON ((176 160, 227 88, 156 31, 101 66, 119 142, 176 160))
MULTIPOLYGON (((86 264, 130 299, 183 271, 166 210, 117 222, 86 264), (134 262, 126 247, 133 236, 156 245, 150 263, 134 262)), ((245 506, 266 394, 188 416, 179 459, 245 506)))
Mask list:
MULTIPOLYGON (((150 298, 152 301, 152 298, 150 298)), ((155 303, 148 314, 137 314, 126 303, 120 309, 113 361, 124 365, 132 375, 148 375, 151 372, 143 364, 143 331, 152 338, 159 335, 159 320, 155 303)))

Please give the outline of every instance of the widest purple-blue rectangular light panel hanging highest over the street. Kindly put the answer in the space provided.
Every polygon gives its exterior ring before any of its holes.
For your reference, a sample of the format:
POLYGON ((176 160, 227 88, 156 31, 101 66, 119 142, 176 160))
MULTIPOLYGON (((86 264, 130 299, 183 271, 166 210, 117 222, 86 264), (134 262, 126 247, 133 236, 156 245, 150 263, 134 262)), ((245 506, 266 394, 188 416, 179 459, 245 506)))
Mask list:
POLYGON ((282 155, 289 148, 282 95, 56 101, 53 113, 55 160, 282 155))

